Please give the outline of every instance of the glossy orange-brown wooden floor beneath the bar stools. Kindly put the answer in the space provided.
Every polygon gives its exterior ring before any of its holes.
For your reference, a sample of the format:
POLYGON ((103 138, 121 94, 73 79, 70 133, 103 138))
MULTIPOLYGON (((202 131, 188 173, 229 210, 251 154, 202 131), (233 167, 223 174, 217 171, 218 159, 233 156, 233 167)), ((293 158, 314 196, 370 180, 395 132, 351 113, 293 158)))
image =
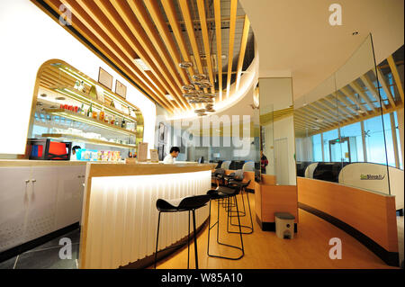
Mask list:
MULTIPOLYGON (((249 200, 254 215, 254 194, 249 193, 249 200)), ((240 202, 240 200, 238 201, 240 202)), ((239 204, 240 205, 240 204, 239 204)), ((216 219, 216 205, 211 207, 211 217, 216 219)), ((249 222, 241 218, 242 224, 249 222)), ((254 215, 255 219, 255 215, 254 215)), ((307 211, 299 210, 298 233, 293 239, 277 238, 275 232, 262 231, 253 220, 254 233, 243 235, 245 256, 232 261, 207 256, 208 228, 200 232, 197 238, 198 262, 200 269, 338 269, 338 268, 392 268, 383 263, 378 256, 350 237, 345 231, 336 228, 325 220, 307 211), (329 258, 330 238, 340 238, 342 242, 342 259, 329 258)), ((226 243, 238 244, 238 234, 226 232, 226 213, 220 209, 220 240, 226 243)), ((238 221, 233 219, 234 223, 238 221)), ((233 229, 232 229, 233 230, 233 229)), ((237 230, 237 229, 235 229, 237 230)), ((237 256, 228 247, 216 244, 217 228, 211 229, 210 253, 220 253, 222 256, 237 256)), ((194 268, 193 244, 190 246, 190 267, 194 268)), ((157 268, 184 269, 187 268, 187 247, 166 257, 157 264, 157 268)))

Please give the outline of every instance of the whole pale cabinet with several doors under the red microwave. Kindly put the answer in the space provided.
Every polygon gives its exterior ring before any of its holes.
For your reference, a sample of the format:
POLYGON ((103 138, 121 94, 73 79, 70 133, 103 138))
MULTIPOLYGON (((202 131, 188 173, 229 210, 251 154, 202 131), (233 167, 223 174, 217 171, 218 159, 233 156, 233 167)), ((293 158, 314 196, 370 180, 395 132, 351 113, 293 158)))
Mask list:
POLYGON ((0 167, 0 252, 80 221, 85 166, 0 167))

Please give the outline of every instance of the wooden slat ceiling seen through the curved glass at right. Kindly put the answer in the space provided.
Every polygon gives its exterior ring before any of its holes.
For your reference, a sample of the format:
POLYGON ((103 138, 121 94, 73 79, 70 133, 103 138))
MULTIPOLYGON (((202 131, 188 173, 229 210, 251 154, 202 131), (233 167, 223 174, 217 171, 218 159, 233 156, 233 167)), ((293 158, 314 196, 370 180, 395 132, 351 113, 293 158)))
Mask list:
POLYGON ((403 108, 403 83, 398 72, 398 67, 403 64, 403 58, 394 61, 390 56, 376 71, 370 70, 335 93, 294 110, 296 136, 305 137, 334 130, 339 126, 373 118, 381 112, 394 112, 403 108), (381 84, 379 90, 377 76, 381 84))

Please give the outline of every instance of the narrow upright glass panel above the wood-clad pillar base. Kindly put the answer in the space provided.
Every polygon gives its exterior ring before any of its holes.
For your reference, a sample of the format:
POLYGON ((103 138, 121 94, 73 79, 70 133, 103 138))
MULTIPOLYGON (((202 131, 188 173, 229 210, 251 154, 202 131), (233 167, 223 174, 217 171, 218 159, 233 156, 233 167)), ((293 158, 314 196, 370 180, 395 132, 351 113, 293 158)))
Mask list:
POLYGON ((261 175, 276 185, 295 185, 292 78, 259 78, 261 175))

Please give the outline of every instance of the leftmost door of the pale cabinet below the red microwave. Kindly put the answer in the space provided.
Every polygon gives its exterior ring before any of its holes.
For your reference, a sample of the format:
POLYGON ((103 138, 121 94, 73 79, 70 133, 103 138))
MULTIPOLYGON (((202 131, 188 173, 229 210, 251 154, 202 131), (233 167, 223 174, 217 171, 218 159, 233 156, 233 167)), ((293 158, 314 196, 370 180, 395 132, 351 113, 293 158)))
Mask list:
POLYGON ((0 252, 24 240, 31 167, 0 167, 0 252))

